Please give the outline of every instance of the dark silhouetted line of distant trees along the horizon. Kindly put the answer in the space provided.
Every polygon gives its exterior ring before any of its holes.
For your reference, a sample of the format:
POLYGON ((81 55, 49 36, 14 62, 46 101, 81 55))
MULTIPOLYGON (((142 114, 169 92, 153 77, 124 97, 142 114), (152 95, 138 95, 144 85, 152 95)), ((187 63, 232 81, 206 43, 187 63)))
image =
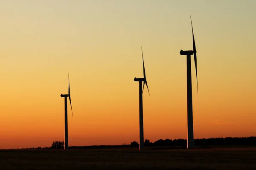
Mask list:
MULTIPOLYGON (((186 139, 159 139, 155 142, 150 142, 150 140, 145 139, 144 147, 182 147, 186 148, 187 140, 186 139)), ((195 147, 207 147, 207 146, 255 146, 256 145, 256 136, 251 137, 227 137, 227 138, 208 138, 208 139, 194 139, 195 147)), ((134 141, 131 144, 122 144, 122 145, 92 145, 92 146, 69 146, 70 149, 96 149, 96 148, 123 148, 123 147, 139 147, 138 142, 134 141)), ((55 141, 52 143, 52 147, 37 147, 30 149, 51 149, 51 148, 64 148, 64 142, 55 141)))

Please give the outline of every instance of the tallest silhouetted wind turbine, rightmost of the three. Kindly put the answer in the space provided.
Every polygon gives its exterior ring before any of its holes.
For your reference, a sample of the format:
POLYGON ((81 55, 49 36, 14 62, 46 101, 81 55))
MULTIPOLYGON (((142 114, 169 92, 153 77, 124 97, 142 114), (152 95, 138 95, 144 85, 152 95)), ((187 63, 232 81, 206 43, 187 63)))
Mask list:
POLYGON ((194 54, 195 60, 195 73, 196 73, 196 84, 197 84, 197 92, 198 92, 198 78, 197 78, 197 60, 196 60, 196 49, 195 49, 195 38, 194 31, 192 26, 192 20, 190 16, 191 27, 192 27, 192 35, 193 35, 193 51, 180 51, 180 55, 186 55, 187 59, 187 109, 188 109, 188 117, 187 117, 187 128, 188 128, 188 136, 187 136, 187 148, 194 147, 194 131, 193 131, 193 108, 192 108, 192 81, 191 81, 191 55, 194 54))

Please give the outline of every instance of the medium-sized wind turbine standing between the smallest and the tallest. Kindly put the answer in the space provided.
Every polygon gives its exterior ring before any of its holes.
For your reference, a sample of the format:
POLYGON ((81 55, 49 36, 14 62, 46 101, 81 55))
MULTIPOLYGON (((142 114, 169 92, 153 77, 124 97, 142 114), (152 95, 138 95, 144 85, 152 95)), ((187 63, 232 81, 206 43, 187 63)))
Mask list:
MULTIPOLYGON (((142 53, 142 61, 143 61, 143 78, 134 78, 135 82, 139 82, 139 100, 140 100, 140 147, 139 149, 143 149, 144 147, 144 130, 143 130, 143 104, 142 104, 142 94, 143 94, 143 90, 144 90, 144 85, 146 84, 147 88, 148 88, 148 83, 147 83, 147 79, 146 79, 146 73, 145 73, 145 66, 144 66, 144 58, 143 58, 143 51, 142 51, 142 47, 141 47, 141 53, 142 53), (143 83, 143 88, 142 88, 142 82, 143 83)), ((148 90, 148 94, 149 94, 149 90, 148 90)), ((150 95, 150 94, 149 94, 150 95)))

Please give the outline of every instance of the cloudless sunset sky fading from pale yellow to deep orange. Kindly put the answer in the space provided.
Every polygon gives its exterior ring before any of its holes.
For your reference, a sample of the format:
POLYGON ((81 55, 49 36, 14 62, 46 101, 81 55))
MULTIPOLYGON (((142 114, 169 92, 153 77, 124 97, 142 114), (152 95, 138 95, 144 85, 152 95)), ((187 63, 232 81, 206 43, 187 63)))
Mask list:
POLYGON ((0 1, 0 148, 139 141, 143 47, 144 138, 186 139, 186 57, 194 137, 256 135, 255 0, 0 1), (193 60, 192 60, 193 61, 193 60))

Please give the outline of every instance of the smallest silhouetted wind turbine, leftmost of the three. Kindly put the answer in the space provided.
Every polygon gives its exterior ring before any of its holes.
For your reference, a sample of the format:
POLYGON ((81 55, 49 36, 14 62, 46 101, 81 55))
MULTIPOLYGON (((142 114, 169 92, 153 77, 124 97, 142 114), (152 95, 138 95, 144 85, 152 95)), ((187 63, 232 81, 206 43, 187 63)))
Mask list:
POLYGON ((69 101, 70 101, 70 107, 71 107, 71 112, 72 112, 72 117, 73 117, 73 110, 72 110, 71 98, 70 98, 69 74, 68 74, 68 94, 61 94, 61 97, 64 97, 64 102, 65 102, 65 146, 64 146, 64 149, 68 149, 67 97, 69 98, 69 101))

